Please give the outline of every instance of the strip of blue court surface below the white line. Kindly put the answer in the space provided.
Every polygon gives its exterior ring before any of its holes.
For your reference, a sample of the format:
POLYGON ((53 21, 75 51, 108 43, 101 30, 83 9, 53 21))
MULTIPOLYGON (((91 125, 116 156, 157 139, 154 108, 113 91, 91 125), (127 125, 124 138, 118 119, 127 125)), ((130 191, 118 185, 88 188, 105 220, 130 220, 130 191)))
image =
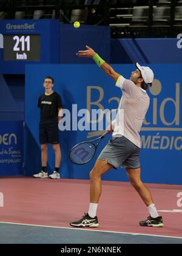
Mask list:
POLYGON ((1 244, 182 244, 174 236, 0 222, 1 244))

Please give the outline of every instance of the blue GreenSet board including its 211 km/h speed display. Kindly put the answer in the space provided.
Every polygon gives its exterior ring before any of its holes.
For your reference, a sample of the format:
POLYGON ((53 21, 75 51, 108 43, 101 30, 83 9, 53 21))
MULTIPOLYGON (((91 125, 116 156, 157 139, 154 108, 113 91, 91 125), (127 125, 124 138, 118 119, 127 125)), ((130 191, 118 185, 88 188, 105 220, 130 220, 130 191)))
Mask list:
POLYGON ((59 20, 1 20, 0 73, 24 74, 27 64, 59 63, 59 20))

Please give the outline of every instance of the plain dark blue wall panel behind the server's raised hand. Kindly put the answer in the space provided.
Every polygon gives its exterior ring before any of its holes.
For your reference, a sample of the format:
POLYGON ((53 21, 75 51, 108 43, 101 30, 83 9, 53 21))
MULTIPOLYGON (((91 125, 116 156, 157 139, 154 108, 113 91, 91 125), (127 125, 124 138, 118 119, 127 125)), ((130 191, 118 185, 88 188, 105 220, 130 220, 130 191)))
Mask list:
POLYGON ((60 25, 59 63, 92 63, 92 59, 79 59, 76 56, 76 52, 86 49, 86 45, 99 52, 106 62, 110 62, 110 27, 81 25, 75 29, 72 24, 60 25))

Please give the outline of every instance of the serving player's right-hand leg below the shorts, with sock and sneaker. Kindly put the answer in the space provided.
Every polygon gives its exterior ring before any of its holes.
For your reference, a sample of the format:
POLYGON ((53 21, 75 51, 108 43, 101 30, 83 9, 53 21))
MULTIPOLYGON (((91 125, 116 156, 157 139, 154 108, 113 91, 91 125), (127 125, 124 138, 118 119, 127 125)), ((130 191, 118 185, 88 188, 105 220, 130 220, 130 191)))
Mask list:
POLYGON ((146 221, 140 221, 141 226, 152 226, 152 227, 163 227, 163 219, 158 215, 155 204, 153 203, 152 194, 149 189, 141 181, 141 168, 126 170, 127 176, 129 177, 130 183, 133 188, 140 194, 144 204, 146 204, 150 216, 146 221))

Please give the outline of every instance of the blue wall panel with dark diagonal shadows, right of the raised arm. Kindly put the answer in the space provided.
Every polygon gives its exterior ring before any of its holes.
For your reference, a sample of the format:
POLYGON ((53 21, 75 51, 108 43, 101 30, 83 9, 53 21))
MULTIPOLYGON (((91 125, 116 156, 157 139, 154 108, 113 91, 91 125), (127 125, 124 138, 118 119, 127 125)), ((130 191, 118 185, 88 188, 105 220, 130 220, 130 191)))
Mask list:
POLYGON ((181 38, 122 38, 110 40, 110 63, 182 63, 181 38))

